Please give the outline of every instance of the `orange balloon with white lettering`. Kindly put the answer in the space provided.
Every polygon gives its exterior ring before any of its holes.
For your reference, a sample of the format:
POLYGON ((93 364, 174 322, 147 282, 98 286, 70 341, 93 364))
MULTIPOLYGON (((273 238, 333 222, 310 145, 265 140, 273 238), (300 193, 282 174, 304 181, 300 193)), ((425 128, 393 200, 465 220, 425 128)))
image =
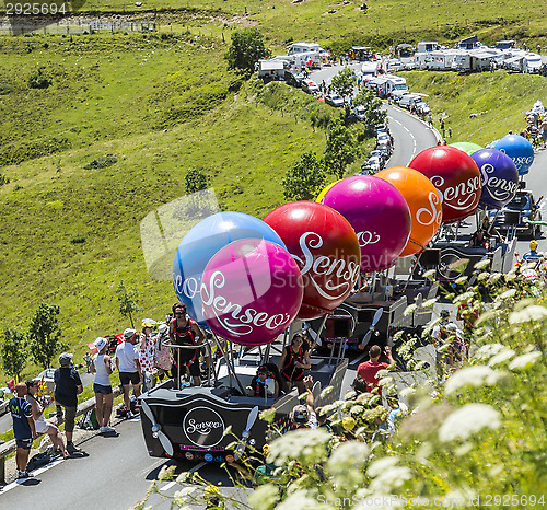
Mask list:
POLYGON ((399 257, 422 252, 441 227, 442 200, 439 192, 421 172, 406 166, 385 169, 374 176, 393 184, 410 209, 410 239, 399 257))

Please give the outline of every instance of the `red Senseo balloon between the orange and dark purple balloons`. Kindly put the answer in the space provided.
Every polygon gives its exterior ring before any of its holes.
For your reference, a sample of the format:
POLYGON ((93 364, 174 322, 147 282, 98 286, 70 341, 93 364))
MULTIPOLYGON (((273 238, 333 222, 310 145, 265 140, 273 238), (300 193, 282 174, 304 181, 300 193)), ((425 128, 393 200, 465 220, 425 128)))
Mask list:
POLYGON ((453 223, 477 209, 482 186, 475 160, 454 147, 430 147, 408 165, 421 172, 443 200, 443 223, 453 223))

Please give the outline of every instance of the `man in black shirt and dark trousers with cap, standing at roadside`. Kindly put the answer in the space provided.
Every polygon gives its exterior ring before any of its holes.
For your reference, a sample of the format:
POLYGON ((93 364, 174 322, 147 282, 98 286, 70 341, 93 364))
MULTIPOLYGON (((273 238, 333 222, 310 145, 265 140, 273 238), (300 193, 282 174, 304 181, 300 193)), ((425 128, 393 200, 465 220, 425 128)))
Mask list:
POLYGON ((55 403, 58 407, 65 407, 65 437, 67 439, 67 451, 72 454, 79 452, 79 449, 72 442, 74 432, 74 418, 78 408, 78 395, 83 392, 80 374, 72 367, 72 355, 62 352, 59 356, 59 364, 54 373, 55 381, 55 403))

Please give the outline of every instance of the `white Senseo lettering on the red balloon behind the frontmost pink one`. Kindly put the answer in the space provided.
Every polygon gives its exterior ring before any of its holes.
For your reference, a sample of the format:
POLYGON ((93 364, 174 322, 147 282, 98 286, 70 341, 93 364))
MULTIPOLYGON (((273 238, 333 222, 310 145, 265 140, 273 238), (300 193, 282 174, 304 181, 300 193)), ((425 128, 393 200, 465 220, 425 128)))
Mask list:
POLYGON ((314 256, 314 251, 323 246, 323 239, 316 232, 305 232, 299 240, 304 259, 292 257, 302 266, 302 276, 307 275, 316 291, 325 299, 337 300, 344 297, 359 278, 359 265, 352 260, 314 256), (321 279, 321 285, 316 281, 321 279), (325 281, 326 280, 326 281, 325 281))

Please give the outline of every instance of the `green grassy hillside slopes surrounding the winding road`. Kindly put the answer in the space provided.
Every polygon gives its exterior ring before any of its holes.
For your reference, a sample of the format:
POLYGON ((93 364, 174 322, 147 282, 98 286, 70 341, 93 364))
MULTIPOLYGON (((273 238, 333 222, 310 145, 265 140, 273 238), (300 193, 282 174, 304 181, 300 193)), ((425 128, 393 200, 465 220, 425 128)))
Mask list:
MULTIPOLYGON (((152 1, 143 8, 165 8, 152 1)), ((186 194, 187 170, 205 171, 222 209, 263 217, 283 202, 281 177, 300 154, 323 152, 324 131, 317 124, 334 111, 300 91, 263 89, 228 72, 223 54, 234 28, 258 25, 275 50, 300 39, 337 50, 475 31, 487 43, 523 36, 547 47, 543 1, 525 11, 512 0, 369 5, 364 13, 358 3, 323 0, 172 2, 181 11, 147 14, 160 18, 161 34, 0 37, 0 174, 10 179, 0 186, 0 331, 24 329, 40 302, 56 303, 65 339, 81 356, 95 336, 128 325, 115 294, 121 280, 141 292, 139 317, 162 317, 174 292, 148 274, 139 225, 186 194), (37 72, 49 88, 28 88, 37 72), (103 166, 104 158, 114 164, 103 166)), ((547 100, 547 80, 538 77, 406 77, 431 95, 435 112, 449 114, 454 140, 488 142, 522 125, 535 100, 547 100), (470 113, 481 115, 469 120, 470 113)))

